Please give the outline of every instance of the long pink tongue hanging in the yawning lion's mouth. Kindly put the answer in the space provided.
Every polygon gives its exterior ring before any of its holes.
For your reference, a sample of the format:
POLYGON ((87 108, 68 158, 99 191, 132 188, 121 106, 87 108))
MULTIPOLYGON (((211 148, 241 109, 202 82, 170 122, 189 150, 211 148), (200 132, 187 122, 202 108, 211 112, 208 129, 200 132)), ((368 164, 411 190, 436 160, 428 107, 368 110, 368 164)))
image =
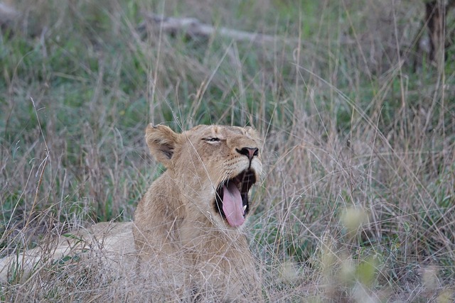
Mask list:
POLYGON ((228 187, 223 187, 223 211, 232 227, 238 227, 245 222, 243 217, 242 195, 234 182, 229 182, 228 187))

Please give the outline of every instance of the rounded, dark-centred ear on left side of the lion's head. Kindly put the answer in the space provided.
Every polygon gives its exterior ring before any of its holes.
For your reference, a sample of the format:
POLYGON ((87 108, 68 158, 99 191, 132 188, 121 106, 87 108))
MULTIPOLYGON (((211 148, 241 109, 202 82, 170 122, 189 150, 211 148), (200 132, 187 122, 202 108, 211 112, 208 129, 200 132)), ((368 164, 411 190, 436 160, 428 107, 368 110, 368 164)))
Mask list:
POLYGON ((171 166, 173 150, 178 144, 178 133, 164 125, 153 126, 149 124, 145 130, 145 140, 149 145, 150 153, 156 160, 163 163, 166 168, 171 166))

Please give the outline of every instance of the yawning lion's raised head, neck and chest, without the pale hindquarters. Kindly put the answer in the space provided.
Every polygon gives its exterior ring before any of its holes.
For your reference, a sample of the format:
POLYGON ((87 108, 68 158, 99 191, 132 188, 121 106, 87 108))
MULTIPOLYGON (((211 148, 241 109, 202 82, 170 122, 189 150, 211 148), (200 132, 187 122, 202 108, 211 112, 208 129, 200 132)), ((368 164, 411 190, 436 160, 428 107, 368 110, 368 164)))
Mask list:
POLYGON ((166 167, 134 214, 138 268, 164 294, 204 301, 261 298, 242 226, 262 172, 250 127, 196 126, 174 133, 147 126, 146 143, 166 167))

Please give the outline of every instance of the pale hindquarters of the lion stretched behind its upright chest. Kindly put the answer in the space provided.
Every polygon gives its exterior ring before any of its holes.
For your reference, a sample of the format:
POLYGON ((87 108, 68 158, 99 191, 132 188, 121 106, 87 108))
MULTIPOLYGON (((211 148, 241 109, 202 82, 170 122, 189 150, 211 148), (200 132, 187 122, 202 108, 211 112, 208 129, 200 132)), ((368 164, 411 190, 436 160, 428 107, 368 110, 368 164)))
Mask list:
MULTIPOLYGON (((137 260, 132 226, 132 222, 102 222, 55 237, 37 248, 9 255, 0 259, 0 282, 5 283, 16 276, 16 282, 26 283, 33 278, 34 272, 39 273, 55 260, 65 257, 79 260, 82 256, 94 258, 95 255, 104 263, 106 274, 109 272, 114 277, 124 275, 134 268, 137 260)), ((90 265, 90 262, 82 264, 90 265)))

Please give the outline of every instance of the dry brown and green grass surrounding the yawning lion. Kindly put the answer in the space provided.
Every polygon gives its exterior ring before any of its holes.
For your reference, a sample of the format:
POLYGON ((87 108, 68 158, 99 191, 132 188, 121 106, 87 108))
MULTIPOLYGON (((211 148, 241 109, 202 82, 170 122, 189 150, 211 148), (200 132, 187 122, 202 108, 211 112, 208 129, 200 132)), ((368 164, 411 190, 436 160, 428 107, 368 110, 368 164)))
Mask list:
MULTIPOLYGON (((161 171, 146 123, 251 124, 266 138, 249 233, 267 301, 454 301, 455 53, 412 70, 423 4, 17 2, 23 21, 0 36, 1 256, 131 220, 161 171), (277 41, 139 35, 144 11, 277 41)), ((18 270, 0 299, 156 292, 97 258, 60 261, 18 270)))

